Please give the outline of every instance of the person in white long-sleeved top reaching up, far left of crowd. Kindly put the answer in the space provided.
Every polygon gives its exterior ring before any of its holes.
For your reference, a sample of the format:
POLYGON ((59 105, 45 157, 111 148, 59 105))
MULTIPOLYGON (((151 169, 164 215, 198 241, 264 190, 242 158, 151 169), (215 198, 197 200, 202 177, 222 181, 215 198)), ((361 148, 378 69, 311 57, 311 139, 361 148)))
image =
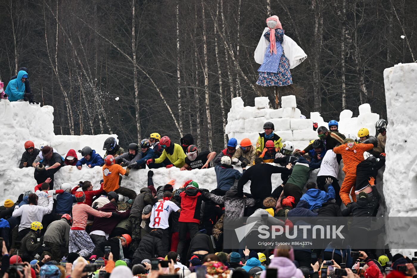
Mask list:
POLYGON ((30 224, 32 222, 38 221, 42 222, 43 216, 50 214, 53 208, 53 198, 51 195, 48 196, 48 207, 43 207, 38 205, 38 196, 35 193, 32 193, 28 196, 28 205, 23 205, 21 207, 16 206, 13 211, 13 217, 19 217, 19 233, 16 241, 22 240, 30 231, 30 224))

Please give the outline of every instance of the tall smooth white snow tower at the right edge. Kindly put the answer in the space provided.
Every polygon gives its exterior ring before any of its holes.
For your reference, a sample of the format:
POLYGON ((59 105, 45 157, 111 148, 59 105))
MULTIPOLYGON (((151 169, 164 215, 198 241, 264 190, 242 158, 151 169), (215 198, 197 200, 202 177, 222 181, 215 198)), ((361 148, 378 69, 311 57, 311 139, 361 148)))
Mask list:
MULTIPOLYGON (((384 196, 389 216, 417 216, 417 153, 415 151, 417 63, 398 64, 384 70, 387 101, 387 162, 384 196)), ((402 221, 404 222, 404 221, 402 221)), ((414 221, 415 223, 415 221, 414 221)), ((387 226, 389 241, 402 242, 397 230, 417 234, 415 225, 387 226)), ((408 255, 414 255, 407 250, 408 255)), ((407 255, 406 250, 402 250, 407 255)), ((414 250, 413 250, 414 251, 414 250)), ((411 258, 411 257, 410 257, 411 258)))

